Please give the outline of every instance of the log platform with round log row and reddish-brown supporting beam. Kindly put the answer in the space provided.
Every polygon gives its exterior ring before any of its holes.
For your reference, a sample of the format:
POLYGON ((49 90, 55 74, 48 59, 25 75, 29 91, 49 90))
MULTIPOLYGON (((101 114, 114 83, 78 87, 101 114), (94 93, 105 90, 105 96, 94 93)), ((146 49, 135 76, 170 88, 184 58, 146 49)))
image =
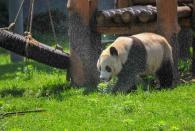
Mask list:
MULTIPOLYGON (((192 6, 178 6, 177 16, 182 27, 190 27, 192 6)), ((143 31, 156 32, 157 8, 153 5, 136 5, 127 8, 98 11, 97 31, 105 34, 135 34, 143 31)))

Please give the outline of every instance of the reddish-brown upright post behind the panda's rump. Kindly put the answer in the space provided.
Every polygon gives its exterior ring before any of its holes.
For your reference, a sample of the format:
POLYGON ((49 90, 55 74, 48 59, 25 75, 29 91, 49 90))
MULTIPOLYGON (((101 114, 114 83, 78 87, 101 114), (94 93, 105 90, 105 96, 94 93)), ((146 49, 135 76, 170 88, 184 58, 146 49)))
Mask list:
POLYGON ((159 33, 169 41, 173 48, 174 59, 174 82, 179 79, 178 73, 178 42, 177 33, 180 30, 177 21, 177 0, 156 0, 157 5, 157 23, 159 33))

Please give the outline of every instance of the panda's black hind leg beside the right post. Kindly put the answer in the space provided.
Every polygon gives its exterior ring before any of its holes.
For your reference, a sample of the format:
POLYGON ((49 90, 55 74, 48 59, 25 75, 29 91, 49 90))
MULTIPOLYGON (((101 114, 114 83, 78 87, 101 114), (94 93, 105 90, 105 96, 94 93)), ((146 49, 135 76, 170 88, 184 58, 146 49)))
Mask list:
POLYGON ((168 88, 173 83, 173 63, 171 60, 163 61, 160 69, 156 72, 161 88, 168 88))

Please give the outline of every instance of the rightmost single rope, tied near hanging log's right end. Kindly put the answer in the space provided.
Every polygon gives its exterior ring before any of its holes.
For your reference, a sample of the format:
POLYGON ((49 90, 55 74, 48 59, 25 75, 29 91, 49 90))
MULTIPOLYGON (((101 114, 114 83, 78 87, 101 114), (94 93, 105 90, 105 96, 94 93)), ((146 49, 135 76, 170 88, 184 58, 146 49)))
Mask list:
POLYGON ((55 48, 56 49, 59 49, 63 52, 63 48, 58 44, 58 40, 57 40, 57 36, 56 36, 56 31, 55 31, 55 27, 54 27, 54 22, 53 22, 53 19, 52 19, 52 15, 51 15, 51 8, 50 8, 50 3, 49 3, 49 0, 47 0, 47 7, 48 7, 48 12, 49 12, 49 19, 50 19, 50 24, 51 24, 51 28, 52 28, 52 32, 53 32, 53 37, 54 37, 54 40, 55 40, 55 48))

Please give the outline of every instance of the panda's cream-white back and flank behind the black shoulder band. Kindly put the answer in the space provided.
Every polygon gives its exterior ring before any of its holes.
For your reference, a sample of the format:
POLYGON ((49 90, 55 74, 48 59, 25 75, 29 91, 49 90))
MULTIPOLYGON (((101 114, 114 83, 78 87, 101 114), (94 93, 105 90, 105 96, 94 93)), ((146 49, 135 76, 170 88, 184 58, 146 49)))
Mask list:
POLYGON ((144 74, 153 74, 161 66, 162 62, 172 56, 171 47, 167 40, 154 33, 141 33, 133 35, 142 41, 147 53, 146 70, 144 74))

